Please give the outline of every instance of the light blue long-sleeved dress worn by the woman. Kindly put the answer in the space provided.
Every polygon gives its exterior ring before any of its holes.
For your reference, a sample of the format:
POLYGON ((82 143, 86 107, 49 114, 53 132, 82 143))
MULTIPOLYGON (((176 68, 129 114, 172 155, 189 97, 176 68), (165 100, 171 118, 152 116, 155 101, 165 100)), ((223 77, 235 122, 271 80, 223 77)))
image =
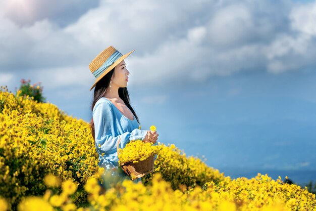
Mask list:
MULTIPOLYGON (((123 149, 132 140, 143 140, 147 134, 146 130, 139 130, 139 124, 134 116, 131 120, 107 98, 100 98, 94 105, 92 111, 95 133, 95 148, 99 155, 98 165, 107 171, 115 170, 112 176, 119 176, 122 180, 131 178, 119 167, 117 145, 123 149)), ((155 156, 156 158, 156 156, 155 156)), ((133 180, 134 183, 141 182, 141 178, 133 180)))

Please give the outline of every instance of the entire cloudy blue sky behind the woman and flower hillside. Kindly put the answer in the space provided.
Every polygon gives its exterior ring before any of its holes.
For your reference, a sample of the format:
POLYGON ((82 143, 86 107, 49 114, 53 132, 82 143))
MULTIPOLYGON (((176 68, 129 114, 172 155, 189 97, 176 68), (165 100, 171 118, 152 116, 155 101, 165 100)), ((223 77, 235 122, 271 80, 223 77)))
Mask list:
POLYGON ((41 82, 91 120, 88 64, 109 46, 161 143, 232 177, 316 180, 315 1, 0 0, 0 85, 41 82))

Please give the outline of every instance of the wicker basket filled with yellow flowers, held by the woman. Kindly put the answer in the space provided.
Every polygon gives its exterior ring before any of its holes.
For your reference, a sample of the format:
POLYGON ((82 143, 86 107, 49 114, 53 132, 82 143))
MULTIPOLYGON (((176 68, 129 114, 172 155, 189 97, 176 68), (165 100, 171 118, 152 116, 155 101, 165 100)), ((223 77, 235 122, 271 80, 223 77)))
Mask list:
MULTIPOLYGON (((150 129, 152 128, 155 129, 151 126, 150 129)), ((133 140, 121 149, 119 148, 120 141, 121 139, 117 145, 119 166, 132 180, 153 172, 154 156, 159 153, 160 146, 133 140)))

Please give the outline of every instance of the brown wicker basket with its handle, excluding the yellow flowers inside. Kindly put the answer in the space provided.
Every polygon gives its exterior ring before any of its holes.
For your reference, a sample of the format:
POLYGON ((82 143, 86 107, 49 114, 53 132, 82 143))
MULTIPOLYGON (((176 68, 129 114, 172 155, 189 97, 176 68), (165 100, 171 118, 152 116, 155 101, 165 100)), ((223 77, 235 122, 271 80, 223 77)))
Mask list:
MULTIPOLYGON (((121 139, 119 139, 117 151, 119 155, 119 144, 121 139)), ((120 159, 120 158, 119 158, 120 159)), ((139 160, 137 163, 132 161, 125 162, 121 164, 122 170, 132 179, 141 178, 147 174, 153 172, 154 155, 149 156, 145 160, 139 160)))

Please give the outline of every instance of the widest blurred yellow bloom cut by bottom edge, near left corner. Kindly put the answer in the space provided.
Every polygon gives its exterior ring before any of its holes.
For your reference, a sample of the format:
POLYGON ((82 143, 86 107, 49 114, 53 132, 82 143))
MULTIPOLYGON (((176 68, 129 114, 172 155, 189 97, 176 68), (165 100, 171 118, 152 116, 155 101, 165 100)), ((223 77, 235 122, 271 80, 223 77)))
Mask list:
POLYGON ((18 211, 53 211, 54 208, 43 198, 29 196, 18 205, 18 211))

